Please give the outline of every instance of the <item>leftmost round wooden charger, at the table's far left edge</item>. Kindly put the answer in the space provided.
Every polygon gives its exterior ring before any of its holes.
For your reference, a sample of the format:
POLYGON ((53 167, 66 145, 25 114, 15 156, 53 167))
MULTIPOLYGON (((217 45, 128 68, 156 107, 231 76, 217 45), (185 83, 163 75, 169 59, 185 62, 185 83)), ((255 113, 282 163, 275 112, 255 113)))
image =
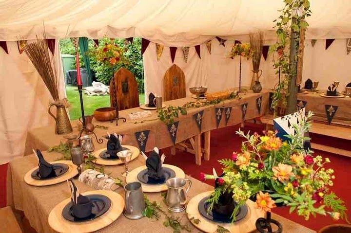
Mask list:
POLYGON ((29 185, 33 186, 48 186, 48 185, 53 185, 53 184, 58 184, 63 181, 66 181, 67 179, 71 179, 75 177, 78 174, 77 171, 77 166, 72 163, 72 161, 69 160, 60 160, 60 161, 55 161, 51 162, 51 164, 55 163, 64 163, 68 165, 68 171, 56 178, 51 178, 51 179, 33 179, 31 177, 31 174, 34 170, 38 169, 38 167, 35 167, 31 170, 29 170, 25 175, 24 175, 24 182, 26 182, 29 185))

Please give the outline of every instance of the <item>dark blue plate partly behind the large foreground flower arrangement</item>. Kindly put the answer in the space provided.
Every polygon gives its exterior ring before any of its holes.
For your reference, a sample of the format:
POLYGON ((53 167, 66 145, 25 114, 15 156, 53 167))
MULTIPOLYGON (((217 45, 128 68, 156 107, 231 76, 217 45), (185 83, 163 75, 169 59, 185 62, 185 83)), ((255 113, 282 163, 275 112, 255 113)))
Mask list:
MULTIPOLYGON (((207 199, 210 198, 210 197, 204 197, 200 200, 199 204, 198 204, 198 210, 200 212, 200 214, 204 217, 204 218, 207 218, 211 221, 214 221, 214 222, 219 222, 219 223, 231 223, 232 222, 232 219, 230 218, 230 215, 220 215, 220 214, 217 214, 213 211, 207 213, 207 209, 208 207, 210 206, 210 203, 207 203, 207 199)), ((242 206, 238 213, 236 214, 236 218, 233 222, 237 222, 241 219, 243 219, 248 213, 248 207, 247 205, 245 204, 244 206, 242 206)))

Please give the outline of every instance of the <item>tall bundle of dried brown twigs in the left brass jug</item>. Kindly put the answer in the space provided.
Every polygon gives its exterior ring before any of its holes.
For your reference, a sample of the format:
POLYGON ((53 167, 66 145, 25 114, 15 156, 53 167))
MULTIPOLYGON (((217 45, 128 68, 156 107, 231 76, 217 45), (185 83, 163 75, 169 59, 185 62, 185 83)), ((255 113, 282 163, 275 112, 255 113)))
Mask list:
POLYGON ((44 38, 37 36, 37 39, 32 43, 28 43, 23 50, 32 61, 54 101, 59 101, 59 56, 55 58, 51 54, 45 35, 44 38))

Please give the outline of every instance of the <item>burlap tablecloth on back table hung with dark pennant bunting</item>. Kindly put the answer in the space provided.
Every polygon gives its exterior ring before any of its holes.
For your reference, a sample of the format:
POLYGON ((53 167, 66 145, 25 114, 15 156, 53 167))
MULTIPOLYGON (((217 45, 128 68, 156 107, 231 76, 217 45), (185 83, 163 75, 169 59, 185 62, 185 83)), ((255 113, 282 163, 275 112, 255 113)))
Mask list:
MULTIPOLYGON (((268 99, 269 99, 269 90, 262 90, 261 93, 248 92, 246 95, 242 95, 241 99, 226 100, 217 105, 205 106, 201 108, 190 108, 186 115, 181 115, 179 113, 179 118, 176 121, 179 121, 176 143, 182 142, 186 139, 194 137, 200 133, 194 118, 194 114, 204 110, 203 121, 202 121, 202 130, 201 132, 207 132, 209 130, 217 128, 216 119, 215 119, 215 108, 219 107, 232 107, 231 117, 227 125, 237 125, 242 122, 242 104, 247 103, 247 111, 245 115, 245 120, 254 119, 258 116, 263 115, 268 109, 268 99), (256 99, 262 96, 262 105, 260 113, 256 107, 256 99)), ((172 101, 164 102, 166 106, 183 106, 185 103, 195 101, 195 99, 187 97, 183 99, 177 99, 172 101)), ((119 112, 120 117, 126 117, 131 112, 142 111, 141 108, 131 108, 122 110, 119 112)), ((158 148, 165 148, 173 145, 173 142, 170 137, 167 125, 162 121, 158 120, 157 112, 152 111, 152 116, 143 118, 140 120, 127 120, 123 123, 122 120, 116 122, 98 122, 93 121, 94 125, 103 125, 108 127, 110 133, 116 132, 117 134, 123 134, 124 144, 134 145, 138 147, 137 140, 135 137, 136 132, 143 130, 150 130, 149 138, 146 143, 146 151, 151 151, 155 146, 158 148), (135 122, 141 122, 135 124, 135 122)), ((78 121, 73 121, 72 126, 74 126, 74 133, 78 132, 78 121)), ((219 127, 225 127, 225 115, 222 116, 222 120, 219 124, 219 127)), ((62 135, 55 134, 55 126, 49 125, 45 127, 35 128, 30 130, 27 134, 27 141, 25 147, 25 155, 32 154, 32 148, 39 148, 40 150, 46 150, 51 146, 59 144, 60 141, 65 141, 62 135)), ((106 135, 106 129, 96 128, 94 132, 101 137, 106 135)), ((95 143, 97 145, 97 143, 95 143)))

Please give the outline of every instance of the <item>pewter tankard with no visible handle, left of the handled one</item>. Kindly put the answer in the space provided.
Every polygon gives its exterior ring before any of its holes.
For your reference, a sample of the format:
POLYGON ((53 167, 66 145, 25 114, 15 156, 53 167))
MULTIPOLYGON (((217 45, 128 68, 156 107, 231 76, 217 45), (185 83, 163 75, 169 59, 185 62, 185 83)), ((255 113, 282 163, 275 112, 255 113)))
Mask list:
POLYGON ((139 219, 145 209, 144 195, 140 182, 124 185, 124 215, 129 219, 139 219))

